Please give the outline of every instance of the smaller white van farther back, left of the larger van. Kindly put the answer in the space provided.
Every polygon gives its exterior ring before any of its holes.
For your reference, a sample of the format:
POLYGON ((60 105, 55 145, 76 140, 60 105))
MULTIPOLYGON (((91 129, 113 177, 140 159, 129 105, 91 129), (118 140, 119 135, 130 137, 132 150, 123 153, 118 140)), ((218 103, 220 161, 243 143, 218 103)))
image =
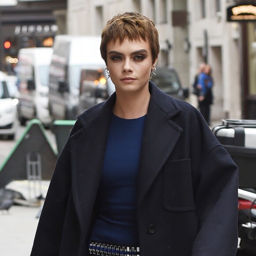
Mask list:
POLYGON ((23 48, 18 53, 17 77, 19 88, 18 114, 21 125, 38 118, 49 126, 48 109, 49 67, 53 48, 23 48))

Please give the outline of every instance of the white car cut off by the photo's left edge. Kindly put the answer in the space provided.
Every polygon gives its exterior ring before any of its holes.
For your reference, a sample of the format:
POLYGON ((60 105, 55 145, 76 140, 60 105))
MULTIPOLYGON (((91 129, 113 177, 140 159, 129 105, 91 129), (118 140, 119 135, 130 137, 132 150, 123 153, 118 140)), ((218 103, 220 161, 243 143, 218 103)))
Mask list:
POLYGON ((0 135, 14 139, 17 130, 17 87, 15 77, 0 73, 0 135))

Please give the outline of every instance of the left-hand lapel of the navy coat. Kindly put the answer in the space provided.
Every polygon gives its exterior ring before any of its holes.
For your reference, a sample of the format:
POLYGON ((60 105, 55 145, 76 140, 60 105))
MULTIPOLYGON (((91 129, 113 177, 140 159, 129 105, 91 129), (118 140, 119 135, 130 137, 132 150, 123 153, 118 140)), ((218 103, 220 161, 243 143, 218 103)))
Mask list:
POLYGON ((97 196, 114 101, 109 99, 97 117, 92 113, 93 120, 71 137, 72 193, 83 234, 97 196))

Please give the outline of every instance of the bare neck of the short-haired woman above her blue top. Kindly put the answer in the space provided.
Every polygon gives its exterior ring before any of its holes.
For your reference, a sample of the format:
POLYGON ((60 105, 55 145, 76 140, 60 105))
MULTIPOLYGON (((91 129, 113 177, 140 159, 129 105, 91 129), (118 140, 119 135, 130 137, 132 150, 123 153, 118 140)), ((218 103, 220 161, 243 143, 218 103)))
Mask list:
POLYGON ((117 117, 135 119, 147 114, 150 93, 148 94, 118 94, 113 113, 117 117))

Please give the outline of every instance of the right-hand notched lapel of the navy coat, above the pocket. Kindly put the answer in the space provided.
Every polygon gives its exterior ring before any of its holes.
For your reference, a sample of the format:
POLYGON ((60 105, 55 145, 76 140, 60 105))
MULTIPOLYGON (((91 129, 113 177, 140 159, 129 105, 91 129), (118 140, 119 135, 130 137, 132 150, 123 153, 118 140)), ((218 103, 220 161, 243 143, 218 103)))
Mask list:
POLYGON ((138 177, 138 203, 150 188, 179 139, 181 127, 171 117, 181 111, 172 98, 163 94, 154 84, 145 120, 138 177))

